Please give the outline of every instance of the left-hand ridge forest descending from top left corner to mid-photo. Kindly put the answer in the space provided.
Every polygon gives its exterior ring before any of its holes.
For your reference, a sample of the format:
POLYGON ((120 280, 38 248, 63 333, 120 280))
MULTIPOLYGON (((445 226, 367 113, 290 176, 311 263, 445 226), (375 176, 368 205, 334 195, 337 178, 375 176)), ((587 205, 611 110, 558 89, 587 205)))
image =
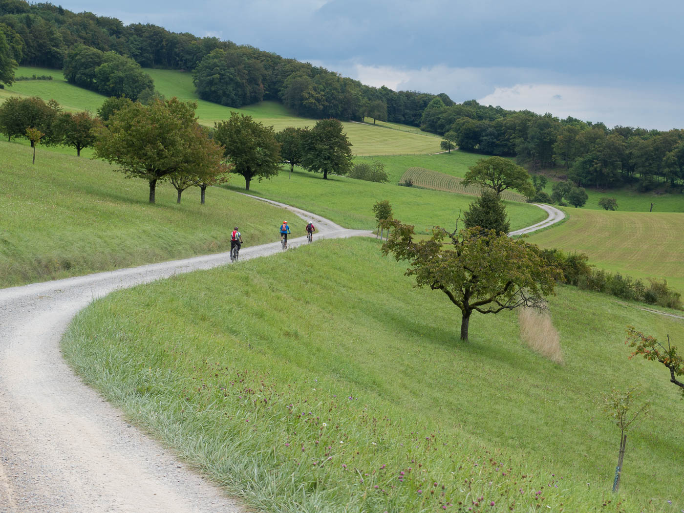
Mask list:
MULTIPOLYGON (((418 127, 423 110, 437 97, 371 88, 326 68, 248 45, 170 32, 157 25, 124 25, 116 18, 74 13, 51 3, 0 0, 0 34, 9 47, 5 53, 16 63, 64 68, 69 81, 103 94, 120 94, 113 88, 122 86, 117 86, 116 80, 114 85, 105 85, 111 80, 98 77, 96 68, 100 67, 99 74, 105 75, 111 68, 105 64, 119 55, 143 68, 192 71, 198 95, 207 101, 241 107, 276 100, 298 115, 311 118, 361 120, 368 115, 374 120, 418 127)), ((0 67, 1 55, 0 44, 0 67)), ((131 62, 119 60, 116 67, 133 74, 131 62)), ((122 71, 118 81, 124 75, 122 71)), ((137 97, 131 91, 125 94, 137 97)), ((448 105, 453 104, 446 94, 439 96, 448 105)))

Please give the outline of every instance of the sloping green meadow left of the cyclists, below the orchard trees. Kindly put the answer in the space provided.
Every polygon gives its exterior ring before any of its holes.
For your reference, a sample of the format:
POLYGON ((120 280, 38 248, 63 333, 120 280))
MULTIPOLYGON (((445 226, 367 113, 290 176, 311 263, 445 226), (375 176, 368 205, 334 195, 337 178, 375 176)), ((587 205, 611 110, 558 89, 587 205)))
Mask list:
POLYGON ((176 205, 176 190, 161 185, 149 205, 146 181, 40 146, 35 165, 21 144, 0 142, 0 155, 0 287, 227 251, 235 224, 246 245, 262 244, 277 239, 283 217, 219 187, 202 206, 199 189, 176 205))

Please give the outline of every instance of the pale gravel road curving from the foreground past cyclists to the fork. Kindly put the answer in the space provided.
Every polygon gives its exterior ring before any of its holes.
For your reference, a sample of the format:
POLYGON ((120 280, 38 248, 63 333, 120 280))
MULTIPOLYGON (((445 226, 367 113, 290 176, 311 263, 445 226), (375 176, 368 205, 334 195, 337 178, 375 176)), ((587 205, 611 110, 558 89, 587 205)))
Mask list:
MULTIPOLYGON (((318 239, 370 235, 264 201, 313 220, 318 239)), ((290 246, 305 240, 291 239, 290 246)), ((276 241, 244 248, 240 259, 278 251, 276 241)), ((246 511, 129 425, 60 355, 64 330, 92 300, 228 262, 220 253, 0 290, 0 513, 246 511)))

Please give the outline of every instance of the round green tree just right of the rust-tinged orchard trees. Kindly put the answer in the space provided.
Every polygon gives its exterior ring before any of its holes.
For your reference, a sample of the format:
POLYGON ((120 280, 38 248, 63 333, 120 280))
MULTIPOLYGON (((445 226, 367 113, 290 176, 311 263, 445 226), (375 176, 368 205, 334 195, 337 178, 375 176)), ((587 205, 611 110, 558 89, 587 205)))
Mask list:
POLYGON ((273 127, 252 116, 231 112, 231 119, 215 124, 214 139, 224 146, 224 156, 233 164, 231 172, 244 176, 246 191, 252 179, 262 181, 280 171, 280 144, 273 127))

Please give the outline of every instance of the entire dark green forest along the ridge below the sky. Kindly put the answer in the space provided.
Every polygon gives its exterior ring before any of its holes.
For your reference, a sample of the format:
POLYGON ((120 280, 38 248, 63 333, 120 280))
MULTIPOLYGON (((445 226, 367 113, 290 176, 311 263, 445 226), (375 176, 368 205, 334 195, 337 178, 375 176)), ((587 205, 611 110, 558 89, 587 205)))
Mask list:
POLYGON ((154 98, 144 68, 184 70, 193 73, 200 98, 230 107, 274 100, 308 118, 369 116, 409 124, 443 135, 461 150, 516 157, 533 172, 553 170, 579 186, 677 192, 684 187, 681 129, 610 129, 601 122, 510 111, 475 100, 455 103, 445 93, 374 88, 249 45, 157 25, 124 25, 51 3, 0 0, 0 57, 3 40, 16 63, 63 70, 70 83, 107 96, 154 98))

